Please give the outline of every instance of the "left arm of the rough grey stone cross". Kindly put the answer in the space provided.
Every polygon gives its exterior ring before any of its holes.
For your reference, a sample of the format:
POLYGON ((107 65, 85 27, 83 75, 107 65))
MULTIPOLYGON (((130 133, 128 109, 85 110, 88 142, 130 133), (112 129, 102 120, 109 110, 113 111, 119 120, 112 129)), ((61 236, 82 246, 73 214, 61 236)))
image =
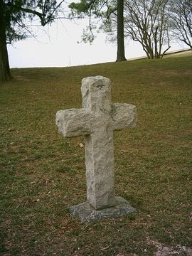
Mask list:
POLYGON ((64 137, 76 137, 90 134, 91 114, 85 109, 59 110, 56 113, 55 123, 58 132, 64 137))

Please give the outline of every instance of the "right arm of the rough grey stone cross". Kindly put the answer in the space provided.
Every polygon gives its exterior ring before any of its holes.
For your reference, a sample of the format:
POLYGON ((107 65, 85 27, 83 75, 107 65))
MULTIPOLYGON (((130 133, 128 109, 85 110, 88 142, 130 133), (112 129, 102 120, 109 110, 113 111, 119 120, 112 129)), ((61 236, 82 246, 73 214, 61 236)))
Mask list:
POLYGON ((136 127, 137 107, 127 103, 112 104, 112 120, 114 130, 136 127))

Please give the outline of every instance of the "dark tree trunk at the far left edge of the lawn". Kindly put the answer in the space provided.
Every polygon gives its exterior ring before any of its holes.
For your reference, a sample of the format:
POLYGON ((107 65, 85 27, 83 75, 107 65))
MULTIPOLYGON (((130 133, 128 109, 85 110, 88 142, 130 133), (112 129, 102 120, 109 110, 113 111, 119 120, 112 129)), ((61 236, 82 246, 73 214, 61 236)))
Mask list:
POLYGON ((6 24, 4 10, 4 2, 0 0, 0 82, 11 79, 9 58, 6 47, 6 24))

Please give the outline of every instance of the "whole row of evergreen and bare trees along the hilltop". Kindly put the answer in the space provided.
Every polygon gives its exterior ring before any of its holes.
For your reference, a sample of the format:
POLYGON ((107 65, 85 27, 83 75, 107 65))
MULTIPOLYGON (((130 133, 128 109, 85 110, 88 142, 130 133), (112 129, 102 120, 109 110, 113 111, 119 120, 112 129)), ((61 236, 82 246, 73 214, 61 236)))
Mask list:
POLYGON ((7 44, 32 34, 28 23, 41 26, 55 18, 88 18, 82 41, 92 42, 105 31, 117 42, 117 61, 126 60, 124 38, 142 45, 147 58, 163 58, 171 41, 182 41, 192 50, 191 0, 0 0, 0 82, 11 79, 7 44), (65 5, 66 6, 66 5, 65 5), (69 11, 70 10, 70 11, 69 11))

